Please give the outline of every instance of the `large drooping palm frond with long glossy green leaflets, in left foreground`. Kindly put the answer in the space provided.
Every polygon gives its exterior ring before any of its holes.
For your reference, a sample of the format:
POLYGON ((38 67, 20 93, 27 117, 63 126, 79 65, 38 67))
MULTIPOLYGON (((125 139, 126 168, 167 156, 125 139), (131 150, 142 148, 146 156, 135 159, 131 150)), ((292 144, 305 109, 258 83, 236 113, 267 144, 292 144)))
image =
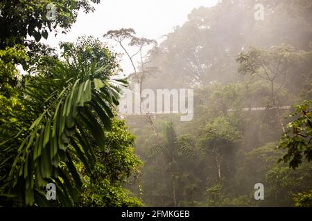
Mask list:
POLYGON ((9 175, 14 180, 11 191, 21 191, 23 204, 49 206, 47 183, 56 185, 56 203, 73 206, 78 200, 83 182, 75 162, 92 173, 94 149, 105 148, 104 131, 119 104, 119 85, 126 83, 111 76, 110 66, 85 66, 78 56, 55 64, 49 76, 37 75, 27 82, 24 113, 33 115, 24 119, 28 126, 19 131, 24 138, 9 175))

